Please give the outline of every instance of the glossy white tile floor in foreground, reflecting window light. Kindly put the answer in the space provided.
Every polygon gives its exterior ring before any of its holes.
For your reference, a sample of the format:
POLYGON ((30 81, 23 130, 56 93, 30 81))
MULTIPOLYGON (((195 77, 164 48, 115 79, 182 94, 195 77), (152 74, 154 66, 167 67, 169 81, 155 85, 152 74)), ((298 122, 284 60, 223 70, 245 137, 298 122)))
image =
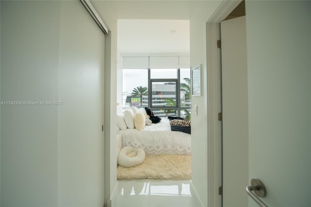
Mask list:
POLYGON ((200 207, 189 180, 119 180, 112 207, 200 207))

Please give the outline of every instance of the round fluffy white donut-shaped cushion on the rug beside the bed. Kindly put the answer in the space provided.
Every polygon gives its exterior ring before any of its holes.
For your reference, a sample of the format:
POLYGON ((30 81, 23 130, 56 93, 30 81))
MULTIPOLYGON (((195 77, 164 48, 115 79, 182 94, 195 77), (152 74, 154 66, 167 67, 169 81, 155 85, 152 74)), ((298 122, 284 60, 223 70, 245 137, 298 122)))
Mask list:
POLYGON ((139 147, 123 147, 118 156, 118 164, 123 167, 133 167, 145 160, 145 151, 139 147))

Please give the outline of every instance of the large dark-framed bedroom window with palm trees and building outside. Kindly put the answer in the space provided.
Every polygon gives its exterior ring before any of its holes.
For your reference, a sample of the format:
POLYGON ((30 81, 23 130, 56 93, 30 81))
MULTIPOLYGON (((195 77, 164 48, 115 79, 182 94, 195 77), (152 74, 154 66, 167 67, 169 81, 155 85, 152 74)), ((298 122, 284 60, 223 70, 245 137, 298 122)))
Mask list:
POLYGON ((190 120, 190 69, 123 69, 122 105, 190 120))

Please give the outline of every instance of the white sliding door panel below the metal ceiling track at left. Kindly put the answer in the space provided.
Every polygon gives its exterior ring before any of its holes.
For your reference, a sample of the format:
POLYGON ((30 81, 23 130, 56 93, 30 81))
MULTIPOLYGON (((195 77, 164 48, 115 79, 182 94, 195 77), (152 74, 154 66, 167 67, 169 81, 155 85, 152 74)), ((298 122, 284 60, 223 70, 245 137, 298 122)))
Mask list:
POLYGON ((62 1, 58 100, 58 206, 104 205, 105 37, 80 1, 62 1))

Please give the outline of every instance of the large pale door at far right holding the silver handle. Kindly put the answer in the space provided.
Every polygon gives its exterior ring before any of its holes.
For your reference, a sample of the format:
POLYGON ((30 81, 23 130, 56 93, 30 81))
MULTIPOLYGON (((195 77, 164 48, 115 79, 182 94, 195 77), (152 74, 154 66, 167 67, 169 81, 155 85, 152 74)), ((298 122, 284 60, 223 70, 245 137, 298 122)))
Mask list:
POLYGON ((249 179, 268 206, 311 206, 311 1, 245 4, 249 179))

